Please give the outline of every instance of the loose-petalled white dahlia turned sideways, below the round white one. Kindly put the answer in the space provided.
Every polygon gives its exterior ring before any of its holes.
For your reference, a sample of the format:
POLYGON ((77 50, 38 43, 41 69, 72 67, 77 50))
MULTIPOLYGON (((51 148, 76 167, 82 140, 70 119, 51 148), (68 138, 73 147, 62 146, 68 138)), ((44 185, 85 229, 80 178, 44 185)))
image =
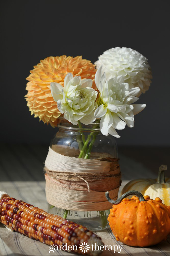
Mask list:
POLYGON ((94 116, 101 118, 100 130, 104 135, 111 134, 119 138, 115 129, 122 130, 126 124, 133 127, 134 115, 146 107, 146 104, 132 104, 139 99, 135 96, 140 88, 129 89, 129 84, 124 83, 123 76, 107 80, 106 73, 102 74, 102 66, 96 72, 95 83, 100 95, 94 116))

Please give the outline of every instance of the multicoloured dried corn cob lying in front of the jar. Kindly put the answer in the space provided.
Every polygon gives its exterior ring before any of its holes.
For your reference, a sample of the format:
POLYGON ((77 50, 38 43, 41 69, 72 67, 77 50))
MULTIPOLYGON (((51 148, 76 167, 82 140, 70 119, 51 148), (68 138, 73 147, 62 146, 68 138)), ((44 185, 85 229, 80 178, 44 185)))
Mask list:
POLYGON ((77 246, 73 248, 73 252, 93 256, 100 254, 100 250, 95 251, 94 247, 92 250, 92 244, 100 248, 103 246, 101 238, 87 228, 60 216, 49 214, 22 200, 16 200, 5 193, 2 197, 0 197, 0 221, 12 231, 15 230, 49 246, 54 245, 59 250, 62 250, 67 243, 67 247, 70 245, 71 250, 73 246, 77 246), (79 249, 80 244, 84 242, 90 247, 85 253, 79 249))

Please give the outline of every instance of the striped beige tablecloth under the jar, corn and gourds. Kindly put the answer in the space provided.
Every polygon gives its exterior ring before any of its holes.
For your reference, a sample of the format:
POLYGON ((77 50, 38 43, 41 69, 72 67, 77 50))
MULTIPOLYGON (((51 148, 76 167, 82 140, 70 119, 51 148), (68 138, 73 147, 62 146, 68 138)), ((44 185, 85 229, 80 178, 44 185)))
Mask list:
MULTIPOLYGON (((38 151, 29 146, 15 146, 15 150, 12 146, 4 147, 0 161, 0 190, 4 190, 17 199, 22 199, 25 202, 29 202, 30 204, 47 211, 45 181, 42 168, 47 151, 48 147, 45 147, 44 149, 40 147, 38 148, 38 151)), ((140 162, 136 162, 132 158, 125 157, 121 154, 119 157, 121 158, 122 187, 130 179, 155 177, 155 173, 143 166, 140 162)), ((97 235, 102 238, 105 245, 112 246, 112 248, 113 246, 121 247, 123 245, 119 255, 170 256, 170 237, 168 237, 166 241, 162 241, 155 246, 136 248, 126 246, 119 241, 117 242, 109 228, 102 232, 98 232, 97 235)), ((115 249, 117 248, 115 247, 115 249)), ((118 249, 115 253, 118 253, 119 251, 120 250, 118 249)), ((113 250, 103 251, 102 255, 112 255, 113 252, 113 250)), ((17 232, 10 232, 0 223, 0 255, 49 256, 51 254, 49 253, 49 246, 25 237, 17 232)), ((75 254, 54 251, 52 255, 65 256, 75 254)))

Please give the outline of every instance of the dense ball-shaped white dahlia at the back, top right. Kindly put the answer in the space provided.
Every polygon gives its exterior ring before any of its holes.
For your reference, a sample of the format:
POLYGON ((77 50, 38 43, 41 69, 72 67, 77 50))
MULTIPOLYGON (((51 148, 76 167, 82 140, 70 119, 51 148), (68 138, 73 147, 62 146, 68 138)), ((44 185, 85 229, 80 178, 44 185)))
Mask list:
POLYGON ((115 47, 105 51, 95 62, 97 69, 102 65, 107 79, 124 76, 129 88, 139 87, 145 93, 151 83, 151 68, 148 60, 139 52, 126 47, 115 47))

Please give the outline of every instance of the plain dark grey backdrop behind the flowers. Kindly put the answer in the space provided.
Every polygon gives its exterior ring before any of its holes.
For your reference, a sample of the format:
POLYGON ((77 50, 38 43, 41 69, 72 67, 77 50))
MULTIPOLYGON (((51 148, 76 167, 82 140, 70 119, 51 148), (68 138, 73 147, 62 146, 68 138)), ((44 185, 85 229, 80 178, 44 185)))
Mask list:
POLYGON ((48 56, 130 47, 148 58, 153 80, 137 103, 146 109, 118 146, 169 146, 168 1, 6 1, 1 4, 1 141, 49 144, 56 128, 30 115, 24 95, 33 66, 48 56), (101 4, 102 3, 102 4, 101 4))

